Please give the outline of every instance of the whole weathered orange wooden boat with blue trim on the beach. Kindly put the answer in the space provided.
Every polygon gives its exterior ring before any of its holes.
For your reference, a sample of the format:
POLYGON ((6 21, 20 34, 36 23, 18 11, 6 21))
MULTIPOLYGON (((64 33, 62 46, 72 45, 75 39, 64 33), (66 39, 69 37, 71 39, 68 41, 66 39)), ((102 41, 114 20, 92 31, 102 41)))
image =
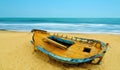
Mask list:
POLYGON ((90 62, 99 64, 107 50, 107 45, 99 40, 51 33, 33 29, 32 44, 49 57, 69 64, 90 62))

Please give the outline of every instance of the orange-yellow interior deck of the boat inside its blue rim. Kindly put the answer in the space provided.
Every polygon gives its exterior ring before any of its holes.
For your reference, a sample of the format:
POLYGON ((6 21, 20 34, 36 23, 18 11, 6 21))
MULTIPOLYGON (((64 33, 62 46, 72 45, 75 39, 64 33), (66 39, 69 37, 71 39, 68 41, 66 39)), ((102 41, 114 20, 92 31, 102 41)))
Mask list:
POLYGON ((33 44, 67 58, 88 58, 103 49, 100 42, 92 39, 76 37, 72 33, 46 31, 34 31, 33 44))

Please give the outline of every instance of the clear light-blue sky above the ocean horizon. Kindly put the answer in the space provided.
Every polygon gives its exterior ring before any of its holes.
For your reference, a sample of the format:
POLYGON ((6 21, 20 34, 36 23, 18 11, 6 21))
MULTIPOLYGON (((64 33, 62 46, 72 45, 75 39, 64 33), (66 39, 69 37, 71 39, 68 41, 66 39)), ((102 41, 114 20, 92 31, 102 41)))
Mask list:
POLYGON ((120 0, 0 0, 0 17, 120 18, 120 0))

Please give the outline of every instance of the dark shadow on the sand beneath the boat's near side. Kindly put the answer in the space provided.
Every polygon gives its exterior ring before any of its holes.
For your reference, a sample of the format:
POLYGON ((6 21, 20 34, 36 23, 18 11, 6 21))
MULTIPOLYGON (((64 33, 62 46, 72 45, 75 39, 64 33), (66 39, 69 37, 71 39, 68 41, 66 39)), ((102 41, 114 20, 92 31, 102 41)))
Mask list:
MULTIPOLYGON (((43 54, 40 51, 33 52, 33 55, 36 56, 37 59, 44 61, 47 64, 58 67, 60 70, 101 70, 100 65, 94 65, 90 63, 80 63, 80 64, 66 64, 59 61, 56 61, 49 56, 43 54)), ((54 69, 53 69, 54 70, 54 69)))

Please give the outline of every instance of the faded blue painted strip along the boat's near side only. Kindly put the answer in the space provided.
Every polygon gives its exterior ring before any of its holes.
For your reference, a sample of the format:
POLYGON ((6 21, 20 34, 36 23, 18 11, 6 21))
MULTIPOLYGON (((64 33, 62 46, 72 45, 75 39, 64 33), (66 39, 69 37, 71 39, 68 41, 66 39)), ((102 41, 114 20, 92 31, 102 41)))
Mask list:
POLYGON ((43 52, 44 54, 47 54, 48 56, 52 57, 55 60, 58 60, 58 61, 61 61, 61 62, 64 62, 64 63, 70 63, 70 64, 89 62, 89 61, 91 61, 91 60, 93 60, 93 59, 95 59, 99 56, 99 55, 95 55, 95 56, 92 56, 92 57, 89 57, 89 58, 84 58, 84 59, 65 58, 65 57, 55 55, 55 54, 45 50, 44 48, 42 48, 40 46, 36 46, 36 48, 39 51, 43 52))

